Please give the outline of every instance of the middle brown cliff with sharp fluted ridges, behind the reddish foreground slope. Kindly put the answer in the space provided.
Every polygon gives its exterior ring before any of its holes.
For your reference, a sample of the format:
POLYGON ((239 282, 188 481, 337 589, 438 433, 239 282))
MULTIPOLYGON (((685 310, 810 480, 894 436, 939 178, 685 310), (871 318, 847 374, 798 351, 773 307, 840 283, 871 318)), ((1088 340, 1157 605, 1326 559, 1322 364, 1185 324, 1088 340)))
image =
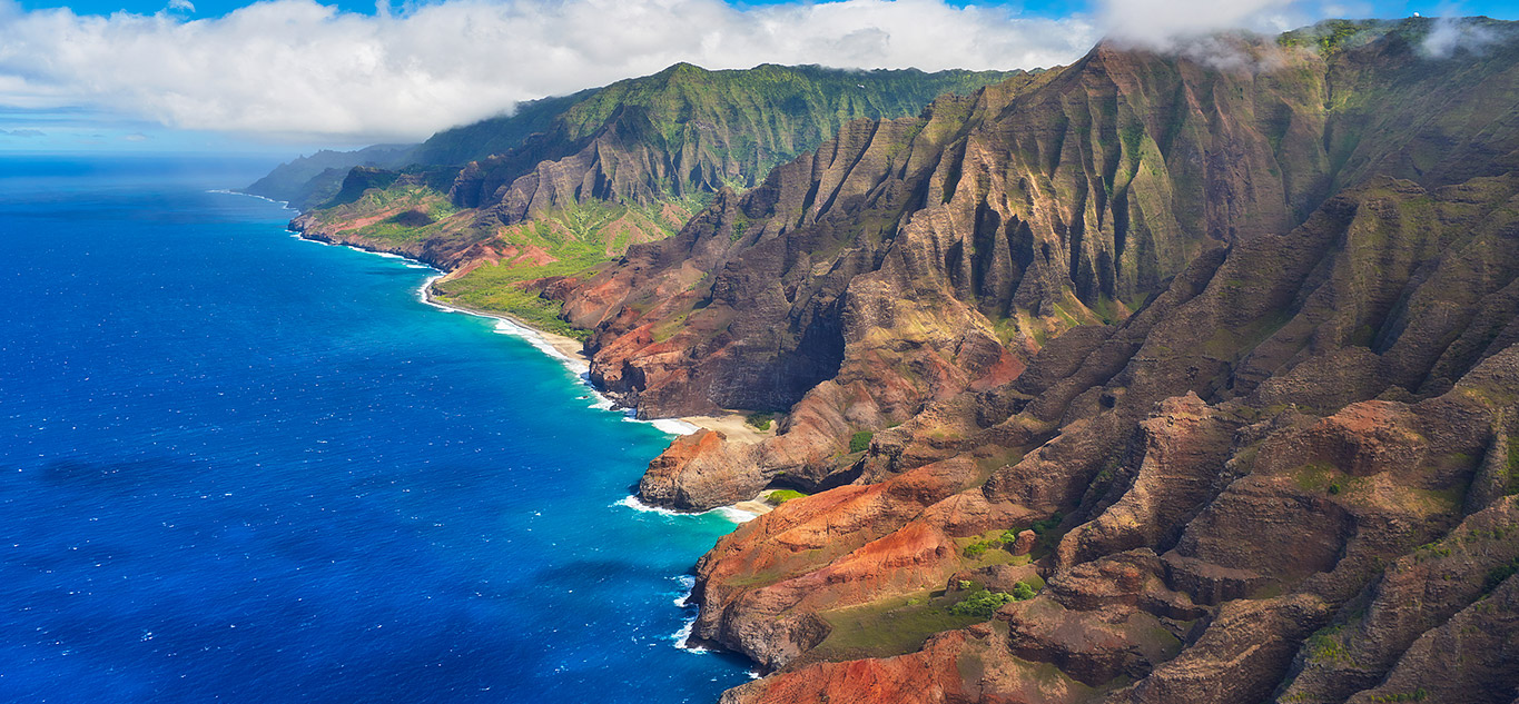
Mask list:
POLYGON ((1230 70, 1100 46, 919 120, 851 124, 630 252, 565 300, 595 329, 597 381, 646 416, 797 404, 766 448, 694 458, 700 490, 664 466, 646 498, 699 508, 782 473, 846 479, 851 432, 1007 381, 1051 337, 1123 320, 1343 184, 1504 173, 1513 58, 1429 59, 1420 27, 1328 56, 1233 39, 1215 47, 1230 70))

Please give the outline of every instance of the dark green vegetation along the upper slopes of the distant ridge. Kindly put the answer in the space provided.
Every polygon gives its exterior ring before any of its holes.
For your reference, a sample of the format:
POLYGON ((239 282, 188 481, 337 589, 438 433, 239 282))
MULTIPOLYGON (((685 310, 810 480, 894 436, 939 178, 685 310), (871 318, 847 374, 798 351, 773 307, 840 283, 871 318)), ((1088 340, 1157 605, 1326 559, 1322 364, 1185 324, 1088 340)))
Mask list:
MULTIPOLYGON (((676 64, 653 76, 535 100, 512 115, 439 132, 416 149, 413 159, 459 165, 509 155, 501 159, 503 165, 527 173, 541 159, 579 152, 586 140, 615 120, 635 123, 636 132, 647 134, 667 153, 694 147, 697 161, 714 167, 702 173, 732 181, 723 185, 752 187, 770 168, 816 149, 849 120, 911 117, 945 93, 969 94, 984 85, 1030 76, 1024 71, 845 71, 781 65, 708 71, 676 64), (513 158, 513 149, 526 158, 513 158)), ((679 178, 690 179, 690 171, 688 165, 688 173, 679 178)), ((681 191, 674 184, 664 185, 670 193, 681 191)))

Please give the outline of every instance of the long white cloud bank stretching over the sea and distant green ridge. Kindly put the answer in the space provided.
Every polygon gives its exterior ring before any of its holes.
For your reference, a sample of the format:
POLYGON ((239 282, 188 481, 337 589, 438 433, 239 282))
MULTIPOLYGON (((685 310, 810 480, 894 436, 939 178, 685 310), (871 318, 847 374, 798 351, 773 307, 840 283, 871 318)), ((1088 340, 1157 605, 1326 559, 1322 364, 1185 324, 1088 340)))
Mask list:
POLYGON ((444 0, 375 17, 267 0, 201 20, 0 0, 0 105, 90 106, 267 138, 418 140, 677 61, 1031 68, 1078 58, 1098 33, 1083 17, 940 0, 444 0))

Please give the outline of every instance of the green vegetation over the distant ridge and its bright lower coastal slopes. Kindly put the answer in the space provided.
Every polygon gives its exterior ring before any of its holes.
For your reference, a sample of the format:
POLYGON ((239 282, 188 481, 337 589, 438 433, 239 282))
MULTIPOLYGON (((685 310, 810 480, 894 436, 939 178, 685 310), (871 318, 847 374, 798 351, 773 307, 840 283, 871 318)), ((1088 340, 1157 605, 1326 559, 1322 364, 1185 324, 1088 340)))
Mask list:
MULTIPOLYGON (((715 188, 755 185, 770 168, 816 149, 849 120, 916 115, 940 94, 966 94, 1015 76, 1027 80, 1030 74, 776 65, 706 71, 677 64, 655 76, 524 103, 509 117, 444 130, 416 147, 299 159, 281 167, 275 181, 305 182, 319 171, 333 181, 336 173, 343 173, 340 188, 336 181, 321 185, 330 199, 313 212, 342 238, 363 238, 395 249, 427 241, 439 250, 488 243, 506 256, 439 282, 434 293, 454 305, 507 313, 535 328, 583 338, 586 332, 559 319, 559 302, 538 296, 526 284, 545 276, 583 276, 632 243, 674 234, 715 188), (586 140, 605 134, 614 121, 623 124, 624 140, 633 141, 609 143, 614 150, 694 153, 694 161, 679 174, 652 182, 615 173, 620 164, 636 168, 636 159, 612 159, 603 164, 609 170, 609 188, 638 184, 630 187, 635 193, 585 197, 507 228, 463 217, 450 220, 459 212, 448 196, 459 165, 475 161, 488 179, 510 182, 545 159, 580 152, 586 140), (404 162, 422 165, 386 170, 404 162), (349 164, 357 165, 348 171, 340 168, 349 164), (339 168, 324 171, 330 167, 339 168), (639 190, 646 187, 653 193, 639 190), (606 197, 621 203, 602 200, 606 197), (668 209, 671 205, 674 212, 668 209)), ((279 196, 295 199, 284 191, 279 196)), ((735 240, 746 231, 746 220, 732 223, 735 240)), ((668 337, 676 328, 671 325, 659 332, 668 337)))

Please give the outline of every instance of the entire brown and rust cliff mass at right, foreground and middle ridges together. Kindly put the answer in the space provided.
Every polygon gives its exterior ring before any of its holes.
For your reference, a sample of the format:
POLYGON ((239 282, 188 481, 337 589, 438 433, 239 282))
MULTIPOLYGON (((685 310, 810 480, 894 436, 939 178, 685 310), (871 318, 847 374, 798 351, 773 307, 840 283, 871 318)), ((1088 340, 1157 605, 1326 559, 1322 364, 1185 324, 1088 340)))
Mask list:
POLYGON ((725 701, 1511 701, 1519 42, 1341 29, 851 123, 557 291, 639 413, 788 410, 639 486, 817 492, 699 564, 725 701))

